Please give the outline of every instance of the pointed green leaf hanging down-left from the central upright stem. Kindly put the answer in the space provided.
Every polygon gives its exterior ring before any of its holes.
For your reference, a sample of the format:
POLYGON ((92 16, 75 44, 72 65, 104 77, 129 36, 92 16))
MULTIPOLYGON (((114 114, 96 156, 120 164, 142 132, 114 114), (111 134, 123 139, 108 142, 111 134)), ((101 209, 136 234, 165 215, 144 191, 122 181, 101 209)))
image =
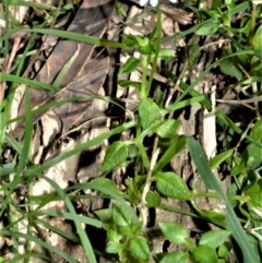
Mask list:
POLYGON ((102 172, 110 171, 121 165, 128 157, 128 146, 124 142, 112 143, 106 152, 102 164, 102 172))

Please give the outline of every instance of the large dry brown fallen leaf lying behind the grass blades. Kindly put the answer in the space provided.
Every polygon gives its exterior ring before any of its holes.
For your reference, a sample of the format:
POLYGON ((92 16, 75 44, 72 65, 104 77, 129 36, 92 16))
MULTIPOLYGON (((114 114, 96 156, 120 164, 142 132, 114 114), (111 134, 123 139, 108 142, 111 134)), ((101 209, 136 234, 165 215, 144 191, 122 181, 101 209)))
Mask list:
MULTIPOLYGON (((85 0, 78 11, 73 22, 69 26, 69 32, 80 33, 102 37, 107 22, 111 16, 115 0, 85 0)), ((47 59, 45 65, 36 76, 37 81, 51 84, 64 64, 75 55, 70 70, 63 75, 60 87, 64 87, 59 92, 56 99, 66 99, 72 96, 83 96, 97 93, 105 81, 108 71, 108 58, 102 53, 92 63, 88 63, 94 57, 95 47, 83 43, 71 40, 60 40, 53 51, 47 59)), ((96 55, 95 55, 96 56, 96 55)), ((49 98, 46 91, 32 87, 29 89, 32 107, 38 107, 49 98)), ((55 109, 63 123, 62 132, 67 132, 75 121, 79 120, 88 107, 90 101, 71 103, 55 109)), ((24 103, 20 107, 20 115, 25 112, 24 103)), ((41 115, 34 116, 36 121, 41 115)), ((12 135, 21 138, 24 133, 24 122, 19 122, 12 135)))

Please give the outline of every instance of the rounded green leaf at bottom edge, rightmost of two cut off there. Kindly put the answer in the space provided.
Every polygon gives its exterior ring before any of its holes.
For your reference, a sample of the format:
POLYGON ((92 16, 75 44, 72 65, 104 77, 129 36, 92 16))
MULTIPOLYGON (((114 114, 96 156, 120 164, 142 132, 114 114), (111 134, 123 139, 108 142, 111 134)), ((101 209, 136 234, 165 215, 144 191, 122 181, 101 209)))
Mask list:
POLYGON ((192 253, 198 263, 217 263, 218 259, 215 249, 207 246, 199 246, 192 253))

